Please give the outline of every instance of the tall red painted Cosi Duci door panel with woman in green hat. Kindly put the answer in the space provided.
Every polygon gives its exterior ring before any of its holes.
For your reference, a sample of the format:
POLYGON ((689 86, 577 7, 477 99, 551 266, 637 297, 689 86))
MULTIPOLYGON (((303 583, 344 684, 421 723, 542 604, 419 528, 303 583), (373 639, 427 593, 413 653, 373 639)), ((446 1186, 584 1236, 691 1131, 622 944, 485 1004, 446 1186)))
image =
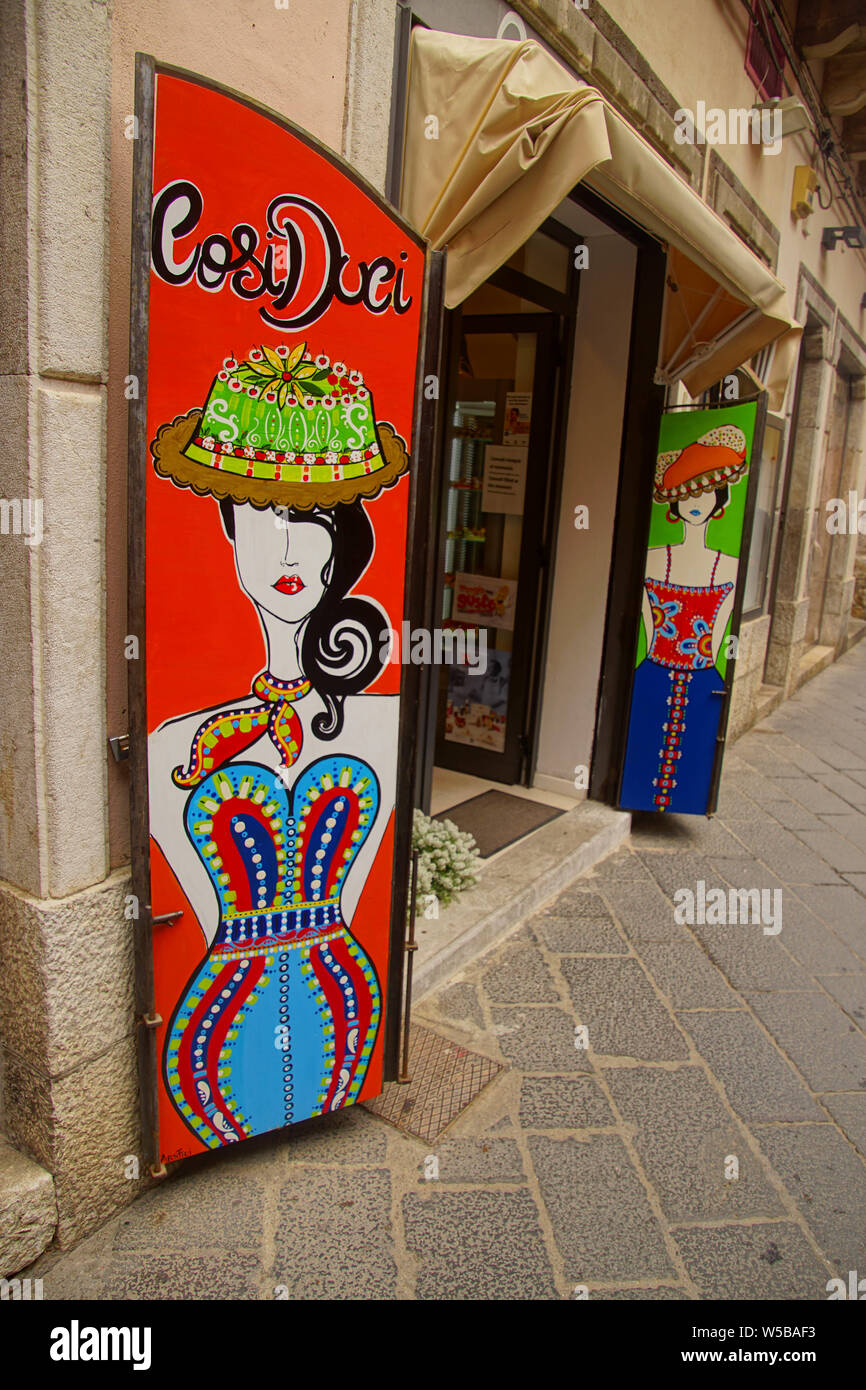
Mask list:
POLYGON ((170 1162, 381 1091, 400 687, 379 637, 403 617, 425 257, 303 132, 190 74, 154 82, 147 828, 170 1162))

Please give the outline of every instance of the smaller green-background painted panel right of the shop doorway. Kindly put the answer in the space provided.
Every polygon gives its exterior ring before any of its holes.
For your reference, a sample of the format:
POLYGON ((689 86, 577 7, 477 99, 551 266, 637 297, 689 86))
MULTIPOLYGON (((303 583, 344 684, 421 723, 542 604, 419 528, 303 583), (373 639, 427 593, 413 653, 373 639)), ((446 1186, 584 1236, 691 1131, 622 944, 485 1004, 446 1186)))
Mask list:
MULTIPOLYGON (((620 806, 709 806, 758 406, 662 417, 620 806)), ((741 573, 742 571, 742 573, 741 573)))

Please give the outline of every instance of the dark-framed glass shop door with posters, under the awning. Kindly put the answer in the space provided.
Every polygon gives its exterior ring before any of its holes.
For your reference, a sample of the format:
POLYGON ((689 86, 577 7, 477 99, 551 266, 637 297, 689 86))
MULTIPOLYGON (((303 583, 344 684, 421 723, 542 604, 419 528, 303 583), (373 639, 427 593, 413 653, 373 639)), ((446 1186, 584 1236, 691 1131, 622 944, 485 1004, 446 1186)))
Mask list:
POLYGON ((530 737, 552 316, 467 316, 448 409, 436 764, 517 783, 530 737))

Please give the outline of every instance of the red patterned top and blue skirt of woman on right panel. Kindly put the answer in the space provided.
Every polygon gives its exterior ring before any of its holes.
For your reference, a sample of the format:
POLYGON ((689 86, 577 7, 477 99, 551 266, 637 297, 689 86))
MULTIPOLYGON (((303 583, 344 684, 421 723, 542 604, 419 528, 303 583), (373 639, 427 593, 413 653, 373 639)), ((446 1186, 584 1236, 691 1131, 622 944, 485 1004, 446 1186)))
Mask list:
POLYGON ((721 677, 713 663, 713 630, 734 588, 645 580, 653 632, 634 673, 628 741, 620 790, 626 810, 703 815, 708 809, 716 735, 721 717, 721 677))

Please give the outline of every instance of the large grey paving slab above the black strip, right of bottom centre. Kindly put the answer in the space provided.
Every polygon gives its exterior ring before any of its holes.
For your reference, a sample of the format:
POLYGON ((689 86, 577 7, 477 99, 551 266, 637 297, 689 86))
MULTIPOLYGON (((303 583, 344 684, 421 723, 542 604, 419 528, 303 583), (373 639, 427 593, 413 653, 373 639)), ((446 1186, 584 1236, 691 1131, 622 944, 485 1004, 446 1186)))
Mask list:
POLYGON ((574 1283, 676 1279, 662 1229, 617 1134, 531 1134, 535 1176, 574 1283))

